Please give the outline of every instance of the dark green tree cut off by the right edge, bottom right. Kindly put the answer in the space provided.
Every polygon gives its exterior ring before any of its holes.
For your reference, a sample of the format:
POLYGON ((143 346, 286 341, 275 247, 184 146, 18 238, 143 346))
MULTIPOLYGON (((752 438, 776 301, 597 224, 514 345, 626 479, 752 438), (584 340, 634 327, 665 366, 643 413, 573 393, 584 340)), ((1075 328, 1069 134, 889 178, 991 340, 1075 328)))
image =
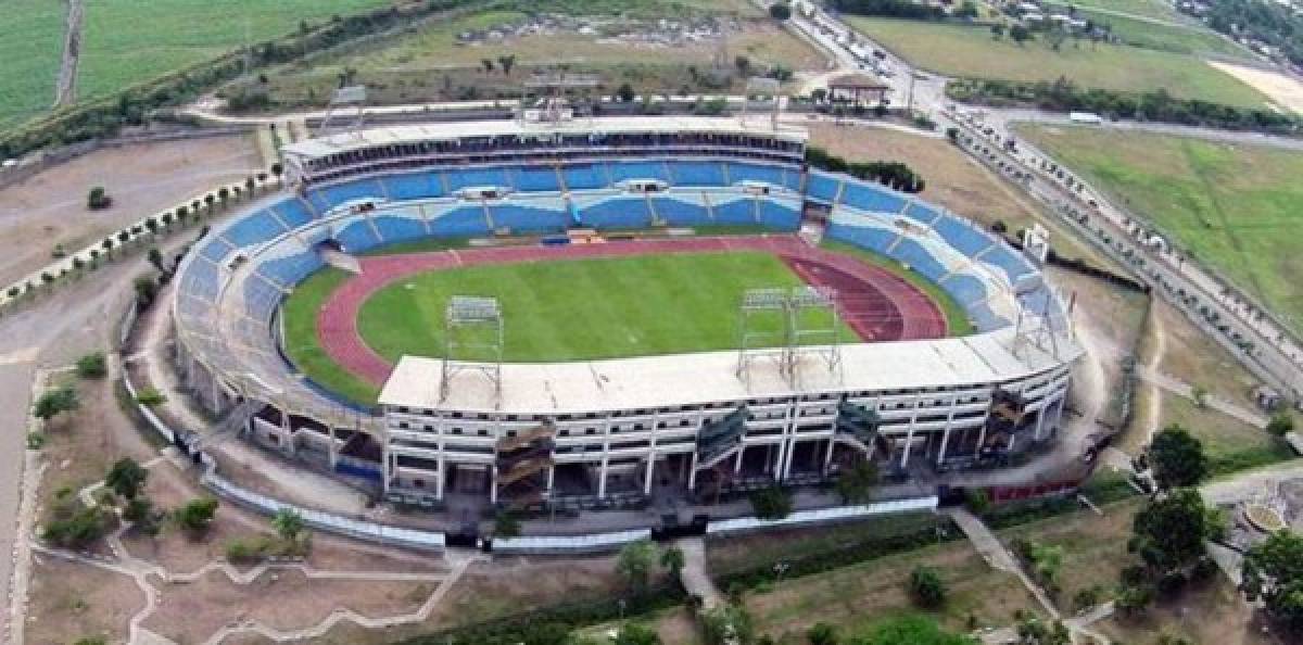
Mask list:
POLYGON ((1250 602, 1261 599, 1274 620, 1293 632, 1303 631, 1303 536, 1272 534, 1248 550, 1240 571, 1240 589, 1250 602))

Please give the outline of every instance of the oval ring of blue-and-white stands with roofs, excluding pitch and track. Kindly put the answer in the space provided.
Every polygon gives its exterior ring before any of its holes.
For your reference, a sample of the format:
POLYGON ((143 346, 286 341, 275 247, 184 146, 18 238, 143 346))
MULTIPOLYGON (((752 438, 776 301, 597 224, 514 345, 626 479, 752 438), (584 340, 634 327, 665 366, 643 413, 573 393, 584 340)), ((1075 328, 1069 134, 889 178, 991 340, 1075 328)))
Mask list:
POLYGON ((245 427, 265 446, 427 504, 453 493, 607 504, 645 499, 657 482, 700 496, 823 481, 865 456, 900 473, 920 460, 1001 463, 1050 439, 1080 349, 1037 267, 939 207, 804 168, 804 141, 727 119, 606 119, 397 126, 288 146, 296 193, 215 227, 179 270, 180 371, 212 412, 253 409, 245 427), (378 410, 340 403, 283 357, 279 305, 326 251, 568 228, 796 231, 807 205, 830 211, 827 238, 952 296, 976 334, 847 344, 837 370, 797 362, 747 378, 736 352, 713 352, 508 364, 494 387, 446 387, 439 357, 404 357, 378 410), (1044 314, 1054 343, 1029 340, 1027 311, 1044 314))

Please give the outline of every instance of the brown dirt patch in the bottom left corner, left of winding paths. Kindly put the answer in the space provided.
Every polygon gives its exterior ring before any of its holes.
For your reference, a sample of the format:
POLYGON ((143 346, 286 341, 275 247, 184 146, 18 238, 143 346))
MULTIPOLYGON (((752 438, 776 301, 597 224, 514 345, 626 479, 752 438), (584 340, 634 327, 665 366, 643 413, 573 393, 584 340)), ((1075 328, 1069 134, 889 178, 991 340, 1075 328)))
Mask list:
POLYGON ((23 633, 33 645, 103 636, 126 638, 128 620, 145 607, 145 592, 126 576, 35 555, 23 633))

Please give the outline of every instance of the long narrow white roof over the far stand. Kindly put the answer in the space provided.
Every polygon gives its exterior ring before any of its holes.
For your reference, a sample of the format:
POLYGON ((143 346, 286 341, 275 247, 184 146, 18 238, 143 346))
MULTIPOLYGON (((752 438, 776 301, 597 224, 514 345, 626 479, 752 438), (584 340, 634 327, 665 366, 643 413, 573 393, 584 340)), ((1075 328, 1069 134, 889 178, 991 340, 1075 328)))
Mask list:
POLYGON ((732 117, 708 116, 612 116, 601 119, 576 119, 573 121, 547 124, 521 124, 520 121, 455 121, 420 125, 392 125, 351 133, 331 134, 314 139, 291 143, 283 150, 288 155, 318 158, 371 146, 390 143, 410 143, 416 141, 455 141, 468 137, 493 137, 503 134, 594 134, 594 133, 680 133, 709 132, 734 134, 773 134, 775 137, 804 143, 805 129, 779 125, 777 130, 757 129, 754 124, 743 124, 732 117))

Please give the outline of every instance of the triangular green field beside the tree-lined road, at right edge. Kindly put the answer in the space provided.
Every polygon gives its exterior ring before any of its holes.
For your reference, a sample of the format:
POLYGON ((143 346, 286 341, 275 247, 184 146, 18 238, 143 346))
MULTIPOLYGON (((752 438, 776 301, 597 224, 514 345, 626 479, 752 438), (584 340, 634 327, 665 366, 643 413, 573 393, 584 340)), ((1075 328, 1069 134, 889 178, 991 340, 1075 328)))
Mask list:
POLYGON ((1303 330, 1303 154, 1134 132, 1019 132, 1303 330))

